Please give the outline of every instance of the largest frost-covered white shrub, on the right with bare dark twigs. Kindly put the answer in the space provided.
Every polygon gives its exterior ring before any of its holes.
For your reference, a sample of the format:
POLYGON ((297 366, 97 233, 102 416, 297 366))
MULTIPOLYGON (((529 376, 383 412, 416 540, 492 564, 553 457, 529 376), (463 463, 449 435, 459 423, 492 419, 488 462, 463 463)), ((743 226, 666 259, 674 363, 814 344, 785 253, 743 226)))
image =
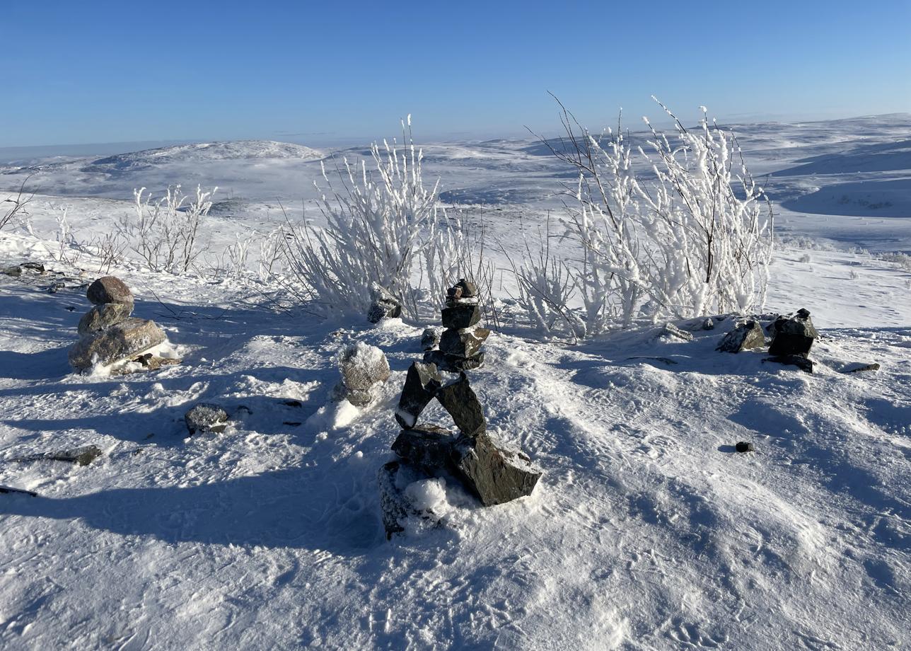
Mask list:
POLYGON ((619 128, 593 137, 563 109, 568 146, 551 150, 579 173, 566 223, 580 263, 568 269, 588 335, 641 317, 759 310, 765 301, 773 215, 737 140, 704 108, 693 130, 661 108, 676 131, 660 133, 646 119, 645 147, 619 128))

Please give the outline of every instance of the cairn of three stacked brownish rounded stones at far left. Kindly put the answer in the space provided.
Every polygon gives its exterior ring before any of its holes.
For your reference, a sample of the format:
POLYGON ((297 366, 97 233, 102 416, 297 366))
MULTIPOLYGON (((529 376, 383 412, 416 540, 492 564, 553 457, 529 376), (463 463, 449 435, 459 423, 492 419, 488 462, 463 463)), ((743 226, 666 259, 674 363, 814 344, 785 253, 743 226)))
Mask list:
POLYGON ((97 279, 88 285, 87 297, 94 307, 79 320, 80 339, 69 350, 69 363, 77 371, 139 356, 148 361, 150 357, 142 354, 167 341, 154 321, 130 316, 133 294, 120 279, 112 275, 97 279))

